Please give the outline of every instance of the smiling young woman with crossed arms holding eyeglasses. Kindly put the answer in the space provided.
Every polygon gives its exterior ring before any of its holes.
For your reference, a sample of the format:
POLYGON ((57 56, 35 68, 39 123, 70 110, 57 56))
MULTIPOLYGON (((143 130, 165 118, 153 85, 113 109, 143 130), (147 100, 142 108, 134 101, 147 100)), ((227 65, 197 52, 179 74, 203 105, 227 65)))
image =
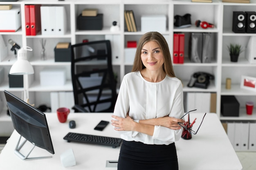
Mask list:
POLYGON ((132 72, 121 83, 112 126, 124 139, 118 170, 178 170, 174 142, 184 115, 182 83, 158 32, 138 42, 132 72))

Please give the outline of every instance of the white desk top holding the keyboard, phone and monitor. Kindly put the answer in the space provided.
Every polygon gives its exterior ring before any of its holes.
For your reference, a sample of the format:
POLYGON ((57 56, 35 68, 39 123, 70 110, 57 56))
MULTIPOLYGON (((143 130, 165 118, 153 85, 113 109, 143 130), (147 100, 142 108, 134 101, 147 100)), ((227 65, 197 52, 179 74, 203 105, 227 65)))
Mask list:
MULTIPOLYGON (((68 128, 66 123, 59 123, 56 114, 47 114, 48 126, 54 145, 55 154, 35 147, 30 156, 50 156, 50 159, 23 161, 14 154, 14 148, 18 142, 18 133, 13 132, 6 146, 0 154, 0 170, 116 170, 106 168, 106 160, 118 160, 119 149, 109 146, 93 144, 68 143, 63 137, 68 132, 86 133, 101 136, 119 137, 109 124, 105 130, 94 130, 99 121, 111 120, 110 113, 71 113, 68 121, 75 120, 76 128, 68 128), (72 148, 76 157, 76 166, 64 168, 60 155, 72 148)), ((191 113, 190 119, 197 117, 194 129, 200 123, 202 114, 191 113)), ((217 115, 207 113, 198 134, 192 139, 180 139, 175 143, 180 170, 241 170, 242 166, 234 151, 225 130, 217 115)))

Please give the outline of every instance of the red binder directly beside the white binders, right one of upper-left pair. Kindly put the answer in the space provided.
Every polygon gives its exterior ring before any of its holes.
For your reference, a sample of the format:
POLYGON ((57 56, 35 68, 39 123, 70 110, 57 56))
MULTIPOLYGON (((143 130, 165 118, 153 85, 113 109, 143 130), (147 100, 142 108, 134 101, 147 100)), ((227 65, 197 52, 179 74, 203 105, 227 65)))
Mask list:
POLYGON ((36 35, 41 31, 40 4, 29 5, 30 35, 36 35))

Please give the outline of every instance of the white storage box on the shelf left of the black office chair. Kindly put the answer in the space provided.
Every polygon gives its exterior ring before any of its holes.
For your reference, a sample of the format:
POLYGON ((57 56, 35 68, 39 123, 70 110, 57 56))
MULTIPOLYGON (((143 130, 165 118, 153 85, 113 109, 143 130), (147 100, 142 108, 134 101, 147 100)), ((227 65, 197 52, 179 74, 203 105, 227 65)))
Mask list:
POLYGON ((41 86, 62 86, 66 83, 65 68, 44 68, 40 72, 41 86))

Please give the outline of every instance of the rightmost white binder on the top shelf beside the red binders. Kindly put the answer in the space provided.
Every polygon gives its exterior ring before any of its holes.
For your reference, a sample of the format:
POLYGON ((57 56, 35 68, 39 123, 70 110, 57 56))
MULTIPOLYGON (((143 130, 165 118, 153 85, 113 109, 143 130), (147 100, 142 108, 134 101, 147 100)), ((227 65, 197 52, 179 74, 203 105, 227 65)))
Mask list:
POLYGON ((55 35, 64 35, 67 31, 65 7, 55 7, 55 35))

